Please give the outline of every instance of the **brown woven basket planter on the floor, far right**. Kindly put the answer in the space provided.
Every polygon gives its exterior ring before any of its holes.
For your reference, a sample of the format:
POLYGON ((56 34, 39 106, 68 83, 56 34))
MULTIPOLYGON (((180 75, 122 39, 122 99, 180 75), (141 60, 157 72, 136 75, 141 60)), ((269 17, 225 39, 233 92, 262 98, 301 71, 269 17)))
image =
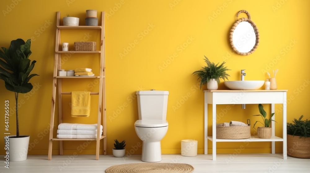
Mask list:
POLYGON ((297 158, 310 158, 310 137, 287 135, 287 155, 297 158))

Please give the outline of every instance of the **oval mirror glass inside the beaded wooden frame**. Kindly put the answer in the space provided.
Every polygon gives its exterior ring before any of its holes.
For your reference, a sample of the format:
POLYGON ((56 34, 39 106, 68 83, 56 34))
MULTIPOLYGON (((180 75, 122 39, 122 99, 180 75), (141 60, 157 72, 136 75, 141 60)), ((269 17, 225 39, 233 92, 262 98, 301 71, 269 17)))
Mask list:
POLYGON ((250 52, 256 43, 256 35, 253 26, 246 21, 240 22, 232 33, 232 42, 239 52, 250 52))

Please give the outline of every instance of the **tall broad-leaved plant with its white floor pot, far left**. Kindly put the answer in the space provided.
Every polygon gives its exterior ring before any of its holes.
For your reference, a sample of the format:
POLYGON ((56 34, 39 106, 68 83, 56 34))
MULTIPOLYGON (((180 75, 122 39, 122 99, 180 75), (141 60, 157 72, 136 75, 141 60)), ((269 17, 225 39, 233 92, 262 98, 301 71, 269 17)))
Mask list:
MULTIPOLYGON (((7 152, 10 161, 23 161, 27 159, 29 136, 20 135, 18 121, 18 96, 19 93, 28 93, 33 85, 29 80, 38 74, 30 74, 36 61, 29 60, 31 40, 24 42, 22 39, 12 40, 9 49, 2 47, 0 51, 0 79, 5 83, 5 88, 15 93, 16 105, 16 135, 6 136, 5 142, 9 142, 7 152)), ((6 100, 7 105, 11 103, 6 100)), ((9 109, 9 108, 8 108, 9 109)), ((9 111, 6 112, 9 115, 9 111)))

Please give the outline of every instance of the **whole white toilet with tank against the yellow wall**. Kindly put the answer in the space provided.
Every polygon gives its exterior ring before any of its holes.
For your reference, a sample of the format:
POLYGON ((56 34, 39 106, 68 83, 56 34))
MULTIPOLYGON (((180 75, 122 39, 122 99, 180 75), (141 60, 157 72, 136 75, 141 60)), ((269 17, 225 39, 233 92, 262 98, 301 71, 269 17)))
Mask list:
POLYGON ((143 141, 143 162, 162 160, 160 141, 168 131, 167 103, 168 91, 137 91, 139 120, 135 122, 135 131, 143 141))

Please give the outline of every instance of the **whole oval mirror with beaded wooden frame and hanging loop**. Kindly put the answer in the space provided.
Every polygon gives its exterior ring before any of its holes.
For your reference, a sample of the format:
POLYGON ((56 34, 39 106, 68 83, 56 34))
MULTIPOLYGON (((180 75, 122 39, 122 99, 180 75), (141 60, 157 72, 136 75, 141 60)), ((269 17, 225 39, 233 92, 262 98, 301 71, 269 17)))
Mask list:
POLYGON ((248 11, 241 10, 237 14, 237 21, 230 29, 229 42, 232 50, 240 55, 250 55, 257 49, 259 32, 248 11), (239 14, 242 12, 246 13, 248 18, 238 19, 239 14))

